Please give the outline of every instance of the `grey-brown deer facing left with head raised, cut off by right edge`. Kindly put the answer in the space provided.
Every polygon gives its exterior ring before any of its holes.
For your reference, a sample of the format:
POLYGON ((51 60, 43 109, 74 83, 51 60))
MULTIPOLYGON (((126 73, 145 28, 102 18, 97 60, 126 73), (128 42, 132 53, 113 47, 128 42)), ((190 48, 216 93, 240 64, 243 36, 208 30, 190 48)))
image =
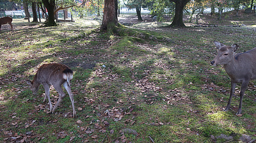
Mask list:
POLYGON ((231 79, 231 91, 225 111, 230 109, 232 96, 234 95, 236 83, 241 83, 240 102, 237 115, 242 112, 242 102, 244 92, 247 89, 248 83, 252 79, 256 79, 256 48, 247 52, 234 54, 238 49, 237 44, 226 46, 218 41, 214 41, 218 49, 217 56, 211 62, 212 65, 221 64, 231 79))

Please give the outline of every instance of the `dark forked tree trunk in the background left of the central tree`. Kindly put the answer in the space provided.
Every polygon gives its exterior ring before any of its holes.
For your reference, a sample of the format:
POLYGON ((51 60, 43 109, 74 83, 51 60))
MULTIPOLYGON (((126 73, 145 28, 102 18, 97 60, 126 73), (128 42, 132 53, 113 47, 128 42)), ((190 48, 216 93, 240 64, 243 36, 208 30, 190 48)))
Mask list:
POLYGON ((56 22, 54 21, 54 0, 42 0, 45 7, 48 10, 48 19, 45 21, 45 26, 57 26, 56 22))

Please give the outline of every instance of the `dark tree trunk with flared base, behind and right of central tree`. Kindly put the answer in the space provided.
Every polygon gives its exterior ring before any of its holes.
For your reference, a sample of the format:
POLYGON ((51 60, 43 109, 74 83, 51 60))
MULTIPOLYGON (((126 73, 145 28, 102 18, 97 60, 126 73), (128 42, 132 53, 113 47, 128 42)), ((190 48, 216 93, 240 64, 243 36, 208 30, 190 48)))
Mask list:
POLYGON ((184 6, 189 2, 189 0, 170 0, 175 3, 175 15, 171 27, 186 27, 183 23, 183 10, 184 6))

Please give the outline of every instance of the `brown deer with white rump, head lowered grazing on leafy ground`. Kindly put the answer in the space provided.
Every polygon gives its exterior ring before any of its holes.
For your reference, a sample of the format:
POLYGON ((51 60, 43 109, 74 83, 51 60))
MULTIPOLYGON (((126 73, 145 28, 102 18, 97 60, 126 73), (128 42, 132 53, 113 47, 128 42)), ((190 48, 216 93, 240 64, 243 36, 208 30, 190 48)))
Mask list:
POLYGON ((27 80, 27 83, 30 85, 30 89, 33 94, 36 94, 38 91, 38 88, 40 84, 44 86, 45 89, 45 97, 49 100, 50 105, 50 111, 53 113, 54 110, 58 107, 59 103, 63 100, 65 97, 65 93, 61 88, 61 84, 65 87, 69 94, 69 98, 72 103, 72 109, 73 109, 73 117, 76 117, 76 109, 74 105, 74 96, 70 89, 70 80, 73 79, 73 71, 68 68, 68 66, 64 64, 44 64, 40 66, 38 71, 36 72, 36 75, 33 79, 33 81, 27 80), (60 94, 60 97, 58 99, 58 102, 52 109, 52 103, 50 99, 50 86, 53 86, 56 91, 60 94))

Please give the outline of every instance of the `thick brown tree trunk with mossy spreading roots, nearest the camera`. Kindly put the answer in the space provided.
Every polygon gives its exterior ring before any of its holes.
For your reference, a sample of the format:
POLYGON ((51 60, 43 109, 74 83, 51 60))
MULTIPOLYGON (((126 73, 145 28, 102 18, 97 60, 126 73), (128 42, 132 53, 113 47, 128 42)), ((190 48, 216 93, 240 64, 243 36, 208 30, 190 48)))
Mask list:
POLYGON ((100 31, 113 30, 113 27, 119 26, 117 19, 117 0, 104 0, 103 20, 100 31))

